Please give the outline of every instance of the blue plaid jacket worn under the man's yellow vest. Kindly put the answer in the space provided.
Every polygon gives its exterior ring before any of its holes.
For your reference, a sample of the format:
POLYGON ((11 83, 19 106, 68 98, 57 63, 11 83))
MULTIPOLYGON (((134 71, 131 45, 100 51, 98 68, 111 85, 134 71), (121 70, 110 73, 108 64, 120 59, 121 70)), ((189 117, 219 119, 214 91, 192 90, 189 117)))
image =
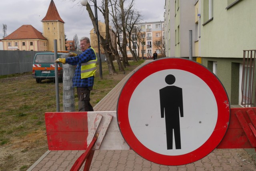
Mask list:
MULTIPOLYGON (((91 47, 91 46, 90 46, 91 47)), ((82 63, 90 60, 96 60, 94 51, 91 48, 85 50, 82 54, 75 57, 66 58, 66 64, 77 65, 73 77, 73 87, 90 87, 94 84, 94 76, 81 79, 82 63)))

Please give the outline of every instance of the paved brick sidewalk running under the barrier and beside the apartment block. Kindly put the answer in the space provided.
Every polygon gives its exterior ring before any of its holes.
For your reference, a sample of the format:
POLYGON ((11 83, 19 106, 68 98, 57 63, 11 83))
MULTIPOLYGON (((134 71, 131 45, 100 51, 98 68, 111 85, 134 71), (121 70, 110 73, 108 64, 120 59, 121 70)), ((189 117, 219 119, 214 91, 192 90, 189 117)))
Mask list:
MULTIPOLYGON (((146 60, 144 64, 151 61, 146 60)), ((94 107, 94 111, 116 111, 119 93, 133 72, 116 85, 94 107)), ((83 152, 46 151, 28 171, 69 171, 83 152)), ((244 149, 215 149, 203 159, 181 166, 158 165, 132 150, 96 150, 90 171, 256 171, 256 165, 244 149)))

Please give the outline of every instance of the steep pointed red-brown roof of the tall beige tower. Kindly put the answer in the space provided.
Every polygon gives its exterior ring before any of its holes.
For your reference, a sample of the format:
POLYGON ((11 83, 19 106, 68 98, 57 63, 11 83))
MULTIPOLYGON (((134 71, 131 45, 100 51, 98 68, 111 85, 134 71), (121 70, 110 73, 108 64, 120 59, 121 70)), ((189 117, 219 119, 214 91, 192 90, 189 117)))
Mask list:
POLYGON ((42 19, 42 22, 43 21, 56 21, 56 20, 64 23, 64 21, 60 18, 60 15, 58 13, 58 10, 57 10, 53 0, 51 0, 50 6, 46 13, 46 16, 42 19))

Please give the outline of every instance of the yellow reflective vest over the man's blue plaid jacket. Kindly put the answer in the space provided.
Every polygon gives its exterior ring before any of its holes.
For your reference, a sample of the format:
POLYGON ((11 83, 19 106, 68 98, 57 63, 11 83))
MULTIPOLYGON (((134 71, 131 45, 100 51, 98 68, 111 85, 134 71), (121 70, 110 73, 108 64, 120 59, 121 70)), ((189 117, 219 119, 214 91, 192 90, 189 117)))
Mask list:
POLYGON ((90 48, 93 50, 96 60, 90 60, 88 62, 82 63, 82 66, 81 66, 81 78, 82 79, 88 78, 91 76, 95 76, 97 56, 96 56, 95 50, 92 47, 90 47, 90 48))

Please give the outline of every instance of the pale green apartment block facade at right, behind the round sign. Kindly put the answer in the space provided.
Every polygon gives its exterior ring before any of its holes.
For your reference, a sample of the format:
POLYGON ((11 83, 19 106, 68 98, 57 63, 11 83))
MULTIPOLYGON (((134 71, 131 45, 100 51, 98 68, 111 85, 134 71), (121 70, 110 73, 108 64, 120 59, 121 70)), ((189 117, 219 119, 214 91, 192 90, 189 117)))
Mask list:
POLYGON ((171 57, 188 57, 188 48, 182 48, 183 44, 188 44, 188 36, 184 41, 182 36, 192 30, 194 60, 197 59, 219 78, 231 105, 240 105, 242 99, 248 98, 244 89, 252 89, 248 87, 252 87, 252 80, 249 79, 247 86, 242 87, 242 80, 247 77, 242 73, 244 67, 246 70, 253 68, 244 66, 243 57, 247 50, 256 49, 256 1, 194 0, 189 3, 166 0, 165 4, 165 28, 168 31, 165 36, 168 47, 166 54, 171 54, 171 57), (189 24, 185 26, 185 23, 189 24))

